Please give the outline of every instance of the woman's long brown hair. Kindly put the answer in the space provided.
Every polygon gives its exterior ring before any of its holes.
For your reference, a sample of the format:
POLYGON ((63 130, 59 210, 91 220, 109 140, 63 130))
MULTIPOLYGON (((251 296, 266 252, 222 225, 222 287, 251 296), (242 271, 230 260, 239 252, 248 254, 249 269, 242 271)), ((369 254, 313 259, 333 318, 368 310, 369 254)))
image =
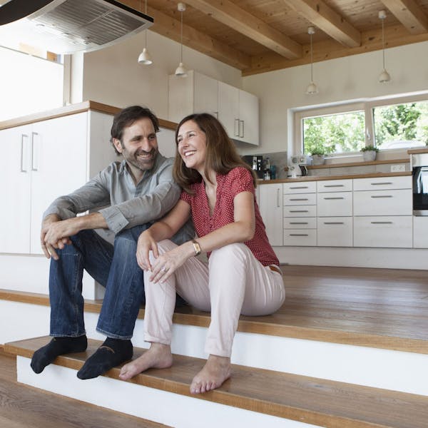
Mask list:
POLYGON ((228 137, 228 134, 223 128, 223 125, 217 118, 208 113, 193 113, 178 123, 175 130, 175 161, 173 168, 174 180, 180 185, 185 192, 192 193, 190 186, 193 183, 200 183, 202 177, 197 170, 187 168, 180 154, 178 153, 178 131, 180 131, 183 123, 193 121, 206 136, 206 159, 205 159, 205 177, 209 180, 210 170, 214 170, 219 174, 227 174, 233 168, 243 166, 253 175, 254 187, 257 185, 255 172, 250 168, 250 165, 245 163, 236 151, 235 145, 228 137))

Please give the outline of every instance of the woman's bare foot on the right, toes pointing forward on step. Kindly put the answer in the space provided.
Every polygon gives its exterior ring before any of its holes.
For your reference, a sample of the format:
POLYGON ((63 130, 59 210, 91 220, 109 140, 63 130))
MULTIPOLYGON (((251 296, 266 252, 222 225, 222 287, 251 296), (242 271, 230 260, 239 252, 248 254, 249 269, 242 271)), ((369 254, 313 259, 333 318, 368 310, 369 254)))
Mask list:
POLYGON ((230 358, 210 355, 205 366, 193 377, 190 385, 192 394, 207 392, 221 386, 230 377, 230 358))

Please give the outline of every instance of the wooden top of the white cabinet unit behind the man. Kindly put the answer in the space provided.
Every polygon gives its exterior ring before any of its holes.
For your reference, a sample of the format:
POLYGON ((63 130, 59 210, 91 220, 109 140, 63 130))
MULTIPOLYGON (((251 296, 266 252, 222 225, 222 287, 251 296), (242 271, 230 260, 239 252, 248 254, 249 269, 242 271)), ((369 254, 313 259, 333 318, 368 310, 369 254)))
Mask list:
MULTIPOLYGON (((115 115, 121 111, 121 108, 97 103, 96 101, 83 101, 83 103, 70 104, 69 106, 58 107, 53 110, 41 111, 40 113, 33 113, 28 116, 21 116, 19 118, 9 119, 9 121, 0 122, 0 130, 28 125, 29 123, 34 122, 46 121, 47 119, 59 118, 61 116, 82 113, 83 111, 88 110, 115 115)), ((166 121, 165 119, 159 119, 159 125, 162 128, 172 129, 173 131, 175 131, 175 128, 177 127, 177 123, 166 121)))

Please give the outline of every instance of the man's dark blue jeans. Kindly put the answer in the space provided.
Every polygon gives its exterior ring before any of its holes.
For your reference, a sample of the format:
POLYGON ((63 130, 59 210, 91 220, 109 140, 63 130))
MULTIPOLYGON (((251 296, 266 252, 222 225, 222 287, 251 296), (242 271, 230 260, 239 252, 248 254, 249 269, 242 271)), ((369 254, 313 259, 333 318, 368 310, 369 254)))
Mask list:
POLYGON ((86 334, 83 322, 82 277, 85 269, 106 287, 96 329, 108 337, 131 339, 140 305, 145 303, 143 270, 137 264, 138 236, 150 224, 123 230, 114 245, 93 230, 81 230, 72 244, 51 259, 49 298, 51 336, 78 337, 86 334))

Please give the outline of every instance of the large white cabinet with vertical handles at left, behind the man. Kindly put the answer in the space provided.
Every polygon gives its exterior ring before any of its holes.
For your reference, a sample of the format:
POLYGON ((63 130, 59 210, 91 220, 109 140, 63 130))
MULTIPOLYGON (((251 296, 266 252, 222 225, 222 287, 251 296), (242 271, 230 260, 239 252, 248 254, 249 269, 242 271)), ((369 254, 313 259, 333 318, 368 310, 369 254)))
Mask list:
POLYGON ((86 111, 0 131, 0 253, 41 254, 44 210, 116 160, 113 116, 86 111), (10 209, 7 209, 10 207, 10 209))

